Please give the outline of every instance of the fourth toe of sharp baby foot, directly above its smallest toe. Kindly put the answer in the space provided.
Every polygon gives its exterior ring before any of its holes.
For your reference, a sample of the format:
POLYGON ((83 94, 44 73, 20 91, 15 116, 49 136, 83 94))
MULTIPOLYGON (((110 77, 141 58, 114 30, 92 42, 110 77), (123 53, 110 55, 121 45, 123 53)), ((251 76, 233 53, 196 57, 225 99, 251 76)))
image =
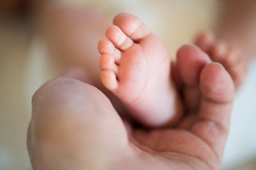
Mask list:
POLYGON ((118 66, 114 63, 114 57, 111 54, 102 54, 100 58, 100 68, 104 70, 112 70, 118 74, 118 66))

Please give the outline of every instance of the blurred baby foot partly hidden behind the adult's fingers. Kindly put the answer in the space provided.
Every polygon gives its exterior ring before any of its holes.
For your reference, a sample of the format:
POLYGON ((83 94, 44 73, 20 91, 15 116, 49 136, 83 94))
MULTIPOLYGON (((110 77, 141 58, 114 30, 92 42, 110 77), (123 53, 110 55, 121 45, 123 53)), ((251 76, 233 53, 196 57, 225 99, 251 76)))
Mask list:
POLYGON ((214 62, 220 62, 232 76, 238 88, 246 76, 247 62, 239 56, 238 50, 231 48, 225 41, 216 40, 211 32, 201 32, 195 44, 207 53, 214 62))

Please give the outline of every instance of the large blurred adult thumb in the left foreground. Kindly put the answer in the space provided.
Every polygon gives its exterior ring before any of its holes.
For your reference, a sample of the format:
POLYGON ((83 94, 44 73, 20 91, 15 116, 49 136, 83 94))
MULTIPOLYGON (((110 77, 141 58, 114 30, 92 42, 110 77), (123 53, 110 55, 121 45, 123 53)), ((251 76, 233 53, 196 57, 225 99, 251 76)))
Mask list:
POLYGON ((127 145, 125 126, 106 96, 70 78, 36 91, 27 138, 32 166, 41 169, 102 169, 90 165, 104 165, 114 147, 127 145))

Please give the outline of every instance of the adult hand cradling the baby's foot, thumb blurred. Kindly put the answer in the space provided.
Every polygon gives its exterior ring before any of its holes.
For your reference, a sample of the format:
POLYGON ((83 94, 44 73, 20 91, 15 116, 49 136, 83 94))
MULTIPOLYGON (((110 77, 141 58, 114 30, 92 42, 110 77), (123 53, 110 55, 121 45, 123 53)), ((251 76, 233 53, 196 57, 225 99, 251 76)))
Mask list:
POLYGON ((44 84, 32 99, 32 167, 220 169, 234 86, 224 67, 198 50, 183 46, 177 53, 187 112, 173 128, 131 127, 102 92, 77 75, 44 84))

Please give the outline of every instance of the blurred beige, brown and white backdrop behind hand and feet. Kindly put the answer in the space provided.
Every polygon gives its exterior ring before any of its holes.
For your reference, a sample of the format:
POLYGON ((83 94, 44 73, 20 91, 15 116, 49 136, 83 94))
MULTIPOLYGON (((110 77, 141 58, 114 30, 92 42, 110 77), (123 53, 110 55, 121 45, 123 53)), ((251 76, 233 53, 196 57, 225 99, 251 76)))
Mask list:
MULTIPOLYGON (((175 58, 177 48, 192 43, 201 30, 216 29, 221 6, 212 0, 1 0, 0 169, 31 169, 26 131, 32 94, 73 66, 97 77, 97 41, 115 14, 137 15, 175 58), (91 60, 81 62, 85 56, 91 60)), ((256 169, 255 59, 248 73, 234 103, 223 162, 227 170, 256 169)))

